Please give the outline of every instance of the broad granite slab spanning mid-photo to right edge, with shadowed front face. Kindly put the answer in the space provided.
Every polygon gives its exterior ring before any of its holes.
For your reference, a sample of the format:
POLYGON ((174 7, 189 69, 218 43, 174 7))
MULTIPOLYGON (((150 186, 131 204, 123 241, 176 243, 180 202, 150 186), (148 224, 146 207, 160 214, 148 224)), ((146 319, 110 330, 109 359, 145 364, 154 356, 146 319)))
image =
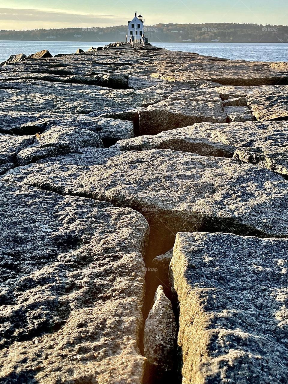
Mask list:
POLYGON ((288 182, 233 159, 84 148, 1 178, 140 211, 151 225, 154 256, 172 247, 179 231, 288 237, 288 182))

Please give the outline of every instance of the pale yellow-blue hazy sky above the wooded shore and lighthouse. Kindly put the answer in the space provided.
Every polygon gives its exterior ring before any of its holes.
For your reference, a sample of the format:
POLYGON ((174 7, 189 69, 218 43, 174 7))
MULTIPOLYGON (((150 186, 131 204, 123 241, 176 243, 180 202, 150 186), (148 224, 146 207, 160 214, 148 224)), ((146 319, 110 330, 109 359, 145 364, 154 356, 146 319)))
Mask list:
POLYGON ((243 22, 288 25, 287 0, 145 0, 133 4, 128 0, 1 0, 0 29, 126 25, 136 10, 146 25, 243 22))

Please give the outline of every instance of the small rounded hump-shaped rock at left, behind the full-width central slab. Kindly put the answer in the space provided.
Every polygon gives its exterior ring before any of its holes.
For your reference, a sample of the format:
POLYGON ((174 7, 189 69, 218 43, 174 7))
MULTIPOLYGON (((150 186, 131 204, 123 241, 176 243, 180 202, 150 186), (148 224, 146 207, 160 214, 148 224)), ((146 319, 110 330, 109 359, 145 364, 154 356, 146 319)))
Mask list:
POLYGON ((46 157, 79 152, 84 147, 103 147, 98 134, 73 126, 55 126, 38 135, 34 144, 18 153, 17 163, 25 165, 46 157))

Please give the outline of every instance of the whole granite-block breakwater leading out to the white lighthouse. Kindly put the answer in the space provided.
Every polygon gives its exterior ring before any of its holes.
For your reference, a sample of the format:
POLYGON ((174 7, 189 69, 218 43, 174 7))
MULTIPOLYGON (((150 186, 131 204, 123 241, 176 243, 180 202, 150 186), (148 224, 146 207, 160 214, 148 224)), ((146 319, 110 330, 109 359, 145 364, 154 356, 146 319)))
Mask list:
POLYGON ((288 382, 288 65, 111 45, 0 66, 0 382, 288 382))

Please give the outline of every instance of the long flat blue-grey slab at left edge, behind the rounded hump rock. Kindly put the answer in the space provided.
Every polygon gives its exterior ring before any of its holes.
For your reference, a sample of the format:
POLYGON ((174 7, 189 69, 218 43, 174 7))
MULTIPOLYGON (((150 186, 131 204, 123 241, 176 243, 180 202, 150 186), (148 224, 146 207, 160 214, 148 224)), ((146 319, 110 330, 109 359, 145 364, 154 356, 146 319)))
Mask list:
MULTIPOLYGON (((6 82, 7 87, 9 82, 6 82)), ((100 116, 146 107, 164 98, 157 90, 146 93, 134 89, 109 89, 87 84, 55 83, 39 80, 12 81, 15 89, 0 89, 0 111, 28 113, 77 113, 100 116)), ((211 120, 212 121, 212 120, 211 120)))

